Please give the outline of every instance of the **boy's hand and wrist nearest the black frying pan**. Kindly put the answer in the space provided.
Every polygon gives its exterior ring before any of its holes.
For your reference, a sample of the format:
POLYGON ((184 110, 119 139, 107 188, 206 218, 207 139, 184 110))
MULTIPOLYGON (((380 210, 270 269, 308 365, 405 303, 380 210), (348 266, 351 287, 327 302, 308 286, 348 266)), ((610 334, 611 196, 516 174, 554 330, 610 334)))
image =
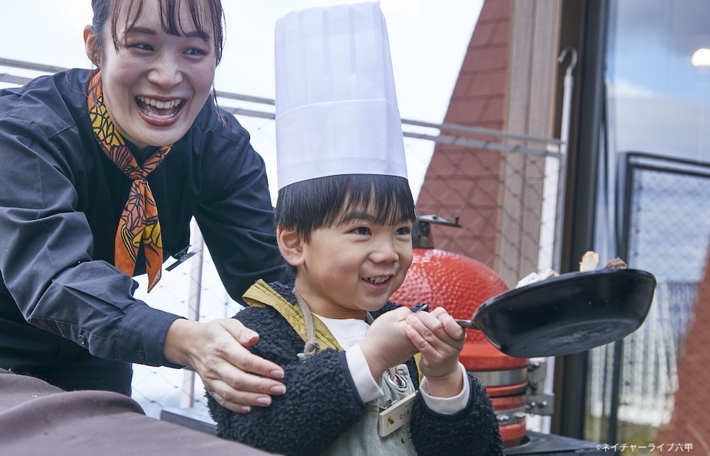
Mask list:
POLYGON ((432 396, 451 397, 463 387, 459 352, 466 332, 442 307, 407 316, 406 334, 422 354, 419 368, 432 396))

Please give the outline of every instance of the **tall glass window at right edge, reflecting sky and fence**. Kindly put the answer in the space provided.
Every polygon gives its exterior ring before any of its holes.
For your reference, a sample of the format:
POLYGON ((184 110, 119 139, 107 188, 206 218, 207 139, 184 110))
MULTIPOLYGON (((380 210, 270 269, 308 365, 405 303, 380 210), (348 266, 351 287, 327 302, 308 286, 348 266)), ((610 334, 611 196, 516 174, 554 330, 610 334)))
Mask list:
POLYGON ((585 436, 638 454, 689 442, 678 423, 704 422, 689 410, 710 406, 710 390, 681 390, 689 372, 710 374, 698 359, 710 345, 686 350, 703 330, 694 320, 710 238, 709 17, 704 0, 610 2, 595 248, 652 272, 657 289, 639 330, 591 352, 585 436))

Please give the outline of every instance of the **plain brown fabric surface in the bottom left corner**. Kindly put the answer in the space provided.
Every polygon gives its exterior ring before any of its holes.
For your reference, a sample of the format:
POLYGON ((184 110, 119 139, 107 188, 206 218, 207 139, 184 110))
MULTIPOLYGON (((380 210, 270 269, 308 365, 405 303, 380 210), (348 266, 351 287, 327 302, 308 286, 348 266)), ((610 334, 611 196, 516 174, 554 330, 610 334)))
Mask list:
POLYGON ((9 455, 266 455, 150 418, 110 391, 63 391, 0 369, 0 448, 9 455))

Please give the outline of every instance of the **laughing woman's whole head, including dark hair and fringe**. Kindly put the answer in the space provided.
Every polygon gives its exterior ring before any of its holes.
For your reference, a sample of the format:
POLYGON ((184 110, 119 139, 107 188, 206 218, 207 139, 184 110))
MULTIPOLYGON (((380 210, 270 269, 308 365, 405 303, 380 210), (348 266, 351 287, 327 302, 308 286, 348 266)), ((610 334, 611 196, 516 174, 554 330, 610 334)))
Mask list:
POLYGON ((116 130, 139 148, 173 143, 202 109, 222 57, 219 1, 93 4, 84 42, 116 130))

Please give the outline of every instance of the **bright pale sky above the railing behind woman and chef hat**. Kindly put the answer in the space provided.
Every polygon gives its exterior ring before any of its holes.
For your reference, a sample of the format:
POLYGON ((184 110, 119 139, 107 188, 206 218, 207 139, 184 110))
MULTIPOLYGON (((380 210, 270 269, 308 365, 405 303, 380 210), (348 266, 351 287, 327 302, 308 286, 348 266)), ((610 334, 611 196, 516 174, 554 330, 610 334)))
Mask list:
MULTIPOLYGON (((358 3, 354 0, 351 3, 358 3)), ((217 90, 273 98, 273 28, 289 11, 346 0, 223 0, 217 90)), ((381 0, 403 118, 441 122, 483 0, 381 0)), ((0 0, 0 57, 87 67, 90 0, 0 0)))

